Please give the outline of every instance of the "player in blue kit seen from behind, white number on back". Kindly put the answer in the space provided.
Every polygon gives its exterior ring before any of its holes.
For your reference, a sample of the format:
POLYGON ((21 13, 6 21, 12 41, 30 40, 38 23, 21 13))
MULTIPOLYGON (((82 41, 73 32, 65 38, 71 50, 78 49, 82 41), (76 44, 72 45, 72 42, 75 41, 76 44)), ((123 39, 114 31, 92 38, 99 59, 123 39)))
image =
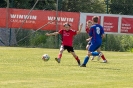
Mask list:
POLYGON ((98 24, 97 16, 94 16, 92 18, 92 21, 93 21, 93 25, 91 26, 90 32, 89 32, 89 36, 91 37, 91 44, 88 48, 88 54, 84 58, 84 62, 80 67, 86 67, 86 64, 89 61, 89 58, 91 55, 98 56, 99 54, 102 53, 102 52, 99 53, 99 52, 95 52, 95 51, 97 49, 99 49, 102 44, 102 38, 105 36, 104 30, 103 30, 103 27, 100 24, 98 24))

